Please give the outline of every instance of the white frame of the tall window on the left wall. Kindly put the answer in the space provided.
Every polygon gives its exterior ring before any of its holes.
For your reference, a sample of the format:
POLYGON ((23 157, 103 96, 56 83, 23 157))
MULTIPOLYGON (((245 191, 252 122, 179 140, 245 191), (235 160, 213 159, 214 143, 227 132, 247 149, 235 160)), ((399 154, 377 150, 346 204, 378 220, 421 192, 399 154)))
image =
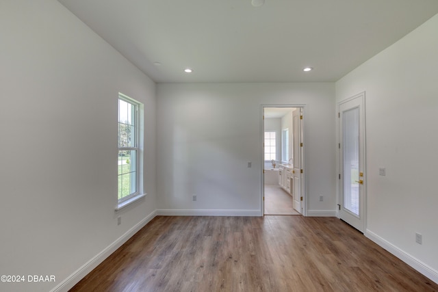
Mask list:
MULTIPOLYGON (((139 200, 140 198, 143 198, 146 196, 146 194, 143 194, 142 187, 143 187, 143 181, 142 181, 142 170, 143 170, 143 155, 142 155, 142 147, 143 147, 143 127, 142 127, 142 120, 143 119, 143 105, 142 103, 139 103, 138 101, 134 100, 133 98, 130 98, 129 96, 126 96, 125 94, 122 94, 119 92, 118 94, 118 122, 117 127, 120 129, 120 101, 125 101, 126 103, 129 103, 130 105, 133 105, 135 107, 134 109, 134 117, 133 117, 133 126, 134 126, 134 144, 133 146, 120 146, 120 137, 118 137, 117 145, 118 145, 118 151, 117 151, 117 160, 119 160, 119 152, 120 151, 136 151, 136 191, 132 194, 129 194, 128 196, 124 196, 123 198, 118 198, 118 189, 119 185, 117 183, 117 206, 116 211, 122 209, 123 207, 126 207, 127 205, 131 204, 132 202, 135 202, 136 200, 139 200)), ((117 165, 117 168, 119 166, 117 165)), ((117 178, 120 176, 120 174, 117 174, 117 178)))

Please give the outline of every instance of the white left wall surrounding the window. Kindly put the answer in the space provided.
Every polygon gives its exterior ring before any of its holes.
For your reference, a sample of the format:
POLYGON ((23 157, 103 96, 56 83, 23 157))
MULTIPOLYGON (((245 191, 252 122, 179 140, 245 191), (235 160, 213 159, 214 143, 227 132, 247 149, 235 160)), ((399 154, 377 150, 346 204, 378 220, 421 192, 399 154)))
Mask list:
POLYGON ((155 83, 57 1, 1 1, 0 39, 0 271, 56 280, 0 290, 49 291, 155 211, 155 83), (144 103, 149 195, 116 214, 119 91, 144 103))

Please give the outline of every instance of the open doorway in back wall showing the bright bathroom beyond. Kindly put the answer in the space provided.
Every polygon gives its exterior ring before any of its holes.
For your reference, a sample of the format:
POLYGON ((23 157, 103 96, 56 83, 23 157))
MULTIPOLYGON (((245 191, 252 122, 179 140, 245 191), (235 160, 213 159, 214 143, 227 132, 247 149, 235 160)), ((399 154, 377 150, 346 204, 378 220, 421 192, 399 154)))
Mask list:
POLYGON ((300 215, 304 208, 302 106, 265 105, 262 111, 262 214, 300 215))

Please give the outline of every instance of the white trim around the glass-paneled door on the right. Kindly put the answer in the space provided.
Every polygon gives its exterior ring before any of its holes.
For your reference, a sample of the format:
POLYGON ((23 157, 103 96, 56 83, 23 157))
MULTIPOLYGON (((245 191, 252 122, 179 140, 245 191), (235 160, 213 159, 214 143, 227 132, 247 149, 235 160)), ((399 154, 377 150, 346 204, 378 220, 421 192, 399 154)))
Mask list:
MULTIPOLYGON (((348 103, 352 100, 354 100, 355 98, 361 98, 362 101, 362 116, 360 117, 360 122, 362 122, 362 129, 363 129, 363 142, 362 142, 362 147, 363 147, 363 172, 365 172, 365 179, 363 180, 363 230, 359 230, 361 231, 361 233, 365 233, 365 230, 367 228, 367 175, 368 175, 368 169, 367 169, 367 159, 366 159, 366 111, 365 111, 365 91, 360 92, 358 94, 355 94, 354 96, 350 96, 349 98, 344 99, 343 101, 339 101, 339 103, 337 103, 337 131, 338 131, 338 135, 337 135, 337 142, 341 143, 341 132, 342 132, 342 124, 341 124, 341 119, 340 119, 340 107, 341 105, 343 105, 344 103, 348 103)), ((337 206, 339 206, 339 208, 336 208, 337 210, 337 217, 340 218, 341 217, 341 211, 340 211, 340 207, 342 207, 342 179, 341 179, 341 170, 342 170, 342 152, 341 152, 341 147, 339 146, 338 149, 338 165, 337 165, 337 170, 339 173, 339 179, 337 180, 337 186, 338 186, 338 194, 337 194, 337 206)), ((347 222, 348 223, 348 222, 347 222)))

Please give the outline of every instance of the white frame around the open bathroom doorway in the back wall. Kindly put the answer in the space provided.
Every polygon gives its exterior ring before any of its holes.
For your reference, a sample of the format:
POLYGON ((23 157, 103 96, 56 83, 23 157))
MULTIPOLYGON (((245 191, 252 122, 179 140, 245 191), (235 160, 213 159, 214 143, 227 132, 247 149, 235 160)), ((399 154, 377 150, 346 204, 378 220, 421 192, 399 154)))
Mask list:
POLYGON ((306 114, 306 105, 304 104, 264 104, 264 105, 260 105, 260 157, 261 157, 261 195, 260 195, 260 206, 261 206, 261 210, 260 210, 260 215, 263 216, 265 215, 265 202, 264 202, 264 198, 265 198, 265 176, 263 175, 263 170, 265 168, 265 161, 263 159, 264 157, 264 148, 263 148, 263 142, 264 142, 264 133, 265 133, 265 122, 263 119, 263 113, 264 113, 264 109, 265 107, 300 107, 302 109, 302 131, 301 131, 301 135, 302 135, 302 150, 301 150, 301 156, 302 156, 302 160, 301 160, 301 165, 302 165, 302 183, 301 183, 301 194, 302 194, 302 202, 301 202, 301 208, 302 208, 302 214, 303 216, 307 216, 307 174, 306 174, 306 170, 307 170, 307 159, 305 159, 305 148, 306 148, 306 141, 305 141, 305 124, 306 124, 306 119, 307 119, 307 114, 306 114))

